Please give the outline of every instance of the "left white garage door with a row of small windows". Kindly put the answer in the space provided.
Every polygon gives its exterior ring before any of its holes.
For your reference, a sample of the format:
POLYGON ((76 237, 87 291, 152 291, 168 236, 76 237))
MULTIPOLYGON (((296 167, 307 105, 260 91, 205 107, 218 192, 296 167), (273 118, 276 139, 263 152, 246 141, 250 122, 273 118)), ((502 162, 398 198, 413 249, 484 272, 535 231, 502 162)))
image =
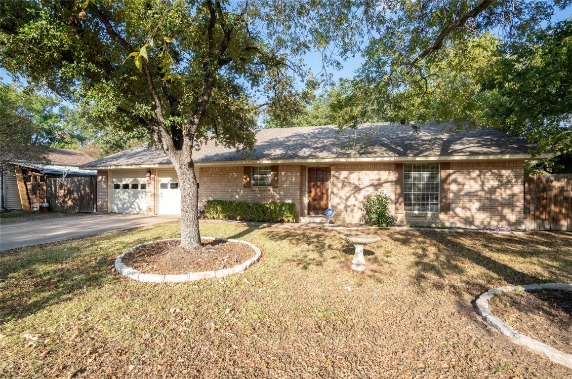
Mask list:
POLYGON ((112 212, 145 213, 146 171, 113 173, 112 212))

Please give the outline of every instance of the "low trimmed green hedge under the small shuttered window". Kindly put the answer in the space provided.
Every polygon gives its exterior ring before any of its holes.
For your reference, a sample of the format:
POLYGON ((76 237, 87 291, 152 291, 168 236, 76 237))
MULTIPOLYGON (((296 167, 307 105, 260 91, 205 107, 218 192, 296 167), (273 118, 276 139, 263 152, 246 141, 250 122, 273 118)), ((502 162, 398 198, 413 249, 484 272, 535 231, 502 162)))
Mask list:
POLYGON ((205 212, 206 217, 218 220, 296 222, 293 203, 207 200, 205 212))

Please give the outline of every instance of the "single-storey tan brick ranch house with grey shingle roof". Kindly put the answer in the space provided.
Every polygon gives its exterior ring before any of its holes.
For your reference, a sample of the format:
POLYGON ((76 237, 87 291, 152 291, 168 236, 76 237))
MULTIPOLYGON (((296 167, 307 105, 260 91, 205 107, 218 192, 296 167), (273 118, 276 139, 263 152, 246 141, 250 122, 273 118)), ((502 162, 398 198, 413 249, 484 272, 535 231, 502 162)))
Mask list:
MULTIPOLYGON (((419 133, 390 123, 336 130, 263 129, 248 158, 209 141, 193 152, 199 208, 210 199, 281 201, 296 204, 301 221, 332 208, 336 222, 363 222, 364 201, 383 190, 399 224, 522 228, 523 162, 535 145, 435 123, 419 133), (370 146, 352 149, 361 142, 370 146)), ((134 147, 83 167, 97 170, 98 212, 180 213, 177 174, 160 150, 134 147)))

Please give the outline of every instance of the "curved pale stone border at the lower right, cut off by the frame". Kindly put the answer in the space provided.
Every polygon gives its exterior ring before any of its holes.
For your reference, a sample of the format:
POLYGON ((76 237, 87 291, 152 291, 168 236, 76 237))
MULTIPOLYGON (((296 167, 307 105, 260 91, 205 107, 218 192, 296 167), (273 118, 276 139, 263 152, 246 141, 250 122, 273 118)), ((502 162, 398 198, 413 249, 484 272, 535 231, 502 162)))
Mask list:
POLYGON ((491 326, 492 328, 498 330, 499 333, 504 334, 509 337, 509 340, 513 341, 517 345, 525 346, 526 348, 532 350, 537 354, 545 356, 549 360, 566 366, 572 369, 572 354, 563 353, 552 346, 543 344, 540 341, 534 340, 533 338, 527 337, 524 334, 518 333, 516 330, 511 328, 509 324, 503 322, 500 318, 494 316, 491 310, 488 309, 488 301, 495 295, 501 294, 503 292, 511 291, 538 291, 542 289, 553 289, 572 292, 572 284, 565 283, 546 283, 546 284, 525 284, 519 286, 504 286, 499 288, 492 288, 487 292, 479 296, 475 301, 476 313, 482 317, 483 321, 491 326))

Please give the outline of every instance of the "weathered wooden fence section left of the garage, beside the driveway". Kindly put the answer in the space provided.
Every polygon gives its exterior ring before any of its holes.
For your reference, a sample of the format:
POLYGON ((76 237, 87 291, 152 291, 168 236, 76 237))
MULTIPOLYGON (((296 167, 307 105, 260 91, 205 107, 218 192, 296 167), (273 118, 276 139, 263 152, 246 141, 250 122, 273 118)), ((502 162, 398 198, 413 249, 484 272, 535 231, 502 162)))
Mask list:
POLYGON ((96 212, 97 179, 47 178, 46 198, 54 212, 96 212))

